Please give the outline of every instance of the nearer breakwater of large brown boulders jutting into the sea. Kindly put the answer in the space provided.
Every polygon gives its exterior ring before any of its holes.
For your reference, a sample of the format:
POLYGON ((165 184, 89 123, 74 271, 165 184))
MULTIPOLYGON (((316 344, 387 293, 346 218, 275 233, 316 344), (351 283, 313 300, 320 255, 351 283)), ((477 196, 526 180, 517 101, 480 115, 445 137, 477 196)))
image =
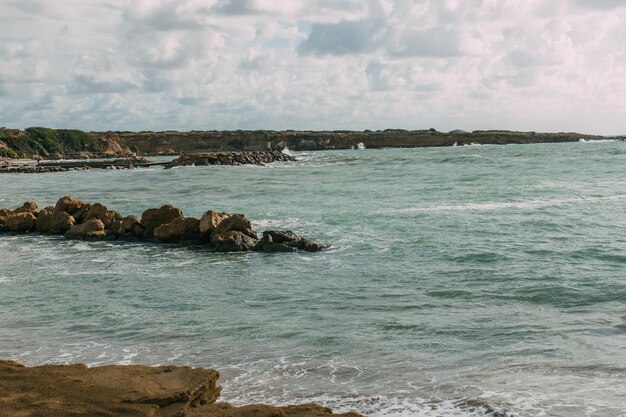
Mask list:
POLYGON ((268 230, 259 236, 243 214, 208 210, 197 219, 164 205, 146 210, 141 217, 124 217, 100 203, 85 203, 70 196, 43 209, 32 201, 16 209, 0 209, 1 232, 202 245, 217 252, 318 252, 327 247, 291 231, 268 230))

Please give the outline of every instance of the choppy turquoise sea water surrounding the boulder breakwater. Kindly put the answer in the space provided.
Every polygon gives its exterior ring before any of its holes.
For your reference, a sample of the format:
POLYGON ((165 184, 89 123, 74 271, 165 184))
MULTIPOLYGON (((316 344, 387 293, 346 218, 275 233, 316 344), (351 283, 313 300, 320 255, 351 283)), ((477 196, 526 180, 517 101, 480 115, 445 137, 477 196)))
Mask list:
POLYGON ((215 367, 234 403, 626 415, 626 143, 297 153, 0 177, 122 214, 245 213, 317 254, 0 237, 0 358, 215 367))

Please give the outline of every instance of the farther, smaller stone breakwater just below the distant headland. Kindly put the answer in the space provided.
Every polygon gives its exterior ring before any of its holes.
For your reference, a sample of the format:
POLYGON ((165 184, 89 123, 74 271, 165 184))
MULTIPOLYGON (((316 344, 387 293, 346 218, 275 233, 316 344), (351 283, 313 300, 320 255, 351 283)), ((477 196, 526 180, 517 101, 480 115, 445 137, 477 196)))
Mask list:
POLYGON ((295 158, 281 151, 231 151, 184 153, 165 168, 205 165, 265 165, 272 162, 291 162, 295 158))

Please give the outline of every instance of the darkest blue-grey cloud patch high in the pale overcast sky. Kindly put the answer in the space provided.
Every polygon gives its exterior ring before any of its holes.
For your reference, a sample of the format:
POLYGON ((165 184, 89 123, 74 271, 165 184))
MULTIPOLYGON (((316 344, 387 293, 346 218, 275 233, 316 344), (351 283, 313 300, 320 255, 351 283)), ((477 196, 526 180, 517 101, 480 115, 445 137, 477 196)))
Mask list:
POLYGON ((382 45, 385 33, 382 19, 314 23, 308 38, 299 45, 298 53, 346 55, 373 52, 382 45))

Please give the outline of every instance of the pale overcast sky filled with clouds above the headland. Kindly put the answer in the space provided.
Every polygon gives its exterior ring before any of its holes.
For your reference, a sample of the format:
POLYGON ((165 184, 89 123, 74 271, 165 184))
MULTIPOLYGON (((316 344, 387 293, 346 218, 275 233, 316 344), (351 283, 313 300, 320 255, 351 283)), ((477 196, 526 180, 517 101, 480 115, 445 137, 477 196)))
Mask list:
POLYGON ((626 133, 626 0, 0 0, 0 126, 626 133))

